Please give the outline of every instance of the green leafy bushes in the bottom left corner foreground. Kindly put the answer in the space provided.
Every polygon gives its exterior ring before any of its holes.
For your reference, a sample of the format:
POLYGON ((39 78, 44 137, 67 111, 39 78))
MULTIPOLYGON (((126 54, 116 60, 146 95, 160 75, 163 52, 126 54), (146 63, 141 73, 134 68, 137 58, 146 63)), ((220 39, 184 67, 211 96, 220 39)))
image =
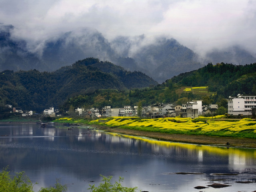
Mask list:
MULTIPOLYGON (((0 192, 34 192, 33 185, 24 172, 16 173, 14 176, 7 171, 8 167, 0 172, 0 192)), ((37 184, 37 183, 36 183, 37 184)), ((58 180, 54 187, 41 188, 39 192, 65 192, 66 185, 61 185, 58 180)))

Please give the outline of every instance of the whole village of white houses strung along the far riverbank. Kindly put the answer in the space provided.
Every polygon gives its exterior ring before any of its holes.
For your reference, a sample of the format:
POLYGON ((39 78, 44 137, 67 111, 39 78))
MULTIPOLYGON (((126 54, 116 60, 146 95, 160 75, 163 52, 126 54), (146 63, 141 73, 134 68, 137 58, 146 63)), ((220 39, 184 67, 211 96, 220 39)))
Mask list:
MULTIPOLYGON (((233 116, 251 116, 256 112, 256 96, 243 96, 238 94, 236 97, 229 97, 228 99, 228 114, 233 116)), ((12 108, 11 105, 6 105, 6 108, 12 108)), ((215 116, 218 105, 209 104, 202 105, 202 100, 192 100, 182 105, 176 104, 154 104, 150 106, 124 106, 123 108, 111 108, 111 106, 104 106, 103 108, 77 108, 72 114, 82 116, 84 118, 101 118, 101 117, 116 117, 116 116, 140 116, 142 118, 164 118, 176 117, 183 118, 198 118, 199 116, 215 116)), ((13 113, 20 113, 22 116, 31 116, 33 112, 30 110, 23 111, 21 108, 12 108, 13 113)), ((70 112, 67 111, 66 114, 70 112)), ((58 110, 54 107, 45 109, 44 116, 52 118, 61 116, 58 110)))

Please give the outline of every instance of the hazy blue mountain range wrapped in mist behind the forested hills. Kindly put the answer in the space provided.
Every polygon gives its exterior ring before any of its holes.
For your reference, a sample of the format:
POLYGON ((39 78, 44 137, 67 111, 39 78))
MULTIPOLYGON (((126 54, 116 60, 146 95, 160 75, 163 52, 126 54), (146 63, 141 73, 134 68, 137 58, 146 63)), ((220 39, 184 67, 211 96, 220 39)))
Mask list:
POLYGON ((94 57, 126 70, 141 71, 162 83, 209 62, 256 62, 250 52, 238 45, 214 49, 202 56, 174 38, 164 36, 117 36, 108 40, 97 30, 83 28, 32 44, 17 35, 12 36, 13 30, 12 25, 0 24, 0 71, 36 69, 50 72, 77 60, 94 57))

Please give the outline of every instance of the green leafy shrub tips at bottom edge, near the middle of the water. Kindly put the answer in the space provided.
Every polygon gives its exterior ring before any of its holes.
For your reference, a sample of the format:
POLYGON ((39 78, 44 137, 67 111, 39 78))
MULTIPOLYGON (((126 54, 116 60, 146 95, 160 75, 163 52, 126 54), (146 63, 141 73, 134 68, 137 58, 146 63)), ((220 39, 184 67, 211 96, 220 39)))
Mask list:
MULTIPOLYGON (((102 175, 101 175, 102 176, 102 175)), ((136 192, 137 187, 127 188, 123 187, 120 182, 124 180, 124 178, 119 177, 118 182, 116 181, 114 184, 111 183, 112 176, 102 176, 102 182, 98 187, 95 185, 90 185, 90 192, 136 192)))

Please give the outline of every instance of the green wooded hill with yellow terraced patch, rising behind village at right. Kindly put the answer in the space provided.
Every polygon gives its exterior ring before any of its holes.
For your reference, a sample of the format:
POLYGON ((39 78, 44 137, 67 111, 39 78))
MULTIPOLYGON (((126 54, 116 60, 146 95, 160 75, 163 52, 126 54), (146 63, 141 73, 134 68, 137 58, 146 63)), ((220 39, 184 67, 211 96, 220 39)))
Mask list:
POLYGON ((215 104, 227 107, 226 99, 237 94, 256 95, 256 63, 249 65, 233 65, 218 63, 186 72, 153 88, 132 89, 124 92, 113 90, 99 90, 90 94, 80 94, 67 100, 62 108, 68 110, 70 106, 100 107, 109 105, 122 107, 123 105, 143 106, 158 103, 182 104, 193 99, 203 100, 203 104, 215 104), (186 91, 185 88, 203 86, 202 89, 186 91))

